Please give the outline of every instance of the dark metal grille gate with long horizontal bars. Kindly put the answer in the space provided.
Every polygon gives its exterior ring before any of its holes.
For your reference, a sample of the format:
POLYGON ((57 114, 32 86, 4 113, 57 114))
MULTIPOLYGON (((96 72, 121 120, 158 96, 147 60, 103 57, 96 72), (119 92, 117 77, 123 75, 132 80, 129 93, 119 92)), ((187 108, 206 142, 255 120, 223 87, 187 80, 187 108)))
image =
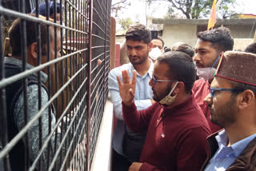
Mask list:
MULTIPOLYGON (((0 1, 1 171, 12 170, 11 153, 19 143, 23 145, 19 154, 24 166, 19 170, 90 170, 108 94, 111 1, 59 0, 59 3, 63 6, 60 21, 56 1, 53 19, 48 0, 0 1), (38 16, 41 2, 46 2, 46 19, 38 16), (30 8, 36 8, 34 15, 26 14, 30 8), (6 77, 6 56, 11 56, 6 30, 16 18, 20 18, 21 72, 6 77), (33 33, 26 31, 30 29, 26 25, 30 22, 36 23, 38 54, 37 65, 27 68, 30 51, 26 39, 33 33), (42 36, 44 26, 46 35, 42 36), (62 35, 59 49, 58 32, 62 35), (42 54, 44 49, 46 54, 42 54), (43 58, 47 61, 42 62, 43 58), (47 75, 46 84, 42 73, 47 75), (31 83, 32 76, 36 82, 31 83), (22 107, 9 106, 10 87, 20 92, 14 93, 14 99, 22 107), (35 89, 34 93, 31 89, 35 89), (14 120, 11 123, 10 118, 14 120), (10 136, 10 128, 18 131, 14 137, 10 136)), ((10 98, 14 103, 13 97, 10 98)))

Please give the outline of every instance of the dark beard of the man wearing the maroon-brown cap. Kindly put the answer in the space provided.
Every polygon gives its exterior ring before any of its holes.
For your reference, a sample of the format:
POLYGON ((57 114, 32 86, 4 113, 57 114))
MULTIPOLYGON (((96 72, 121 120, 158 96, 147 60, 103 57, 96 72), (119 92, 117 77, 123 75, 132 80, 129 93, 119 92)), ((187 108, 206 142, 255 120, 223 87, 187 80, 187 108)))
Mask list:
POLYGON ((214 109, 210 106, 210 121, 222 128, 227 125, 231 125, 236 121, 236 96, 231 96, 230 101, 222 105, 218 109, 214 109))

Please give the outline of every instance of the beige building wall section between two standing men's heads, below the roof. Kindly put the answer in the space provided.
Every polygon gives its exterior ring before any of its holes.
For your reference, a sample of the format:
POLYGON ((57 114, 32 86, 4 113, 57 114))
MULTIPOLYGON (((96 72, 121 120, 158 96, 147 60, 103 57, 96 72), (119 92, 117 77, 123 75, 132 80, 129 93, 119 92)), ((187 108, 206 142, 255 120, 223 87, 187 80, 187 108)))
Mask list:
POLYGON ((176 42, 185 42, 190 46, 195 46, 197 26, 164 26, 162 31, 162 38, 165 46, 171 47, 176 42))

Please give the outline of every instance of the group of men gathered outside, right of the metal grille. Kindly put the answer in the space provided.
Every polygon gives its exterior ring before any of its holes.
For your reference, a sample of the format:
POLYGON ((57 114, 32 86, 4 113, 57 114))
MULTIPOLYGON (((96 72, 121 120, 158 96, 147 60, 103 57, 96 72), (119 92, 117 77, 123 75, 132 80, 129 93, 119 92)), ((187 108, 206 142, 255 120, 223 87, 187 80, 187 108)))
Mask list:
POLYGON ((146 26, 126 31, 130 62, 109 74, 114 171, 255 170, 255 43, 231 51, 226 27, 197 36, 163 50, 146 26))

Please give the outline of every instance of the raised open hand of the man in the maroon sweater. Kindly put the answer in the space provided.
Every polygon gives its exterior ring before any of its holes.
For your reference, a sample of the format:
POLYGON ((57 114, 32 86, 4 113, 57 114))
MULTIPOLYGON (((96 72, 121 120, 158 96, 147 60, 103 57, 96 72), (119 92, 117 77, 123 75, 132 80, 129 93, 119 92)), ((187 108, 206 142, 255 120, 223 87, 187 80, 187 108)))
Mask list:
POLYGON ((127 70, 122 70, 122 82, 120 78, 117 76, 119 93, 124 105, 132 105, 132 103, 134 102, 136 77, 137 75, 135 70, 133 71, 133 78, 131 82, 130 82, 130 77, 127 70))

